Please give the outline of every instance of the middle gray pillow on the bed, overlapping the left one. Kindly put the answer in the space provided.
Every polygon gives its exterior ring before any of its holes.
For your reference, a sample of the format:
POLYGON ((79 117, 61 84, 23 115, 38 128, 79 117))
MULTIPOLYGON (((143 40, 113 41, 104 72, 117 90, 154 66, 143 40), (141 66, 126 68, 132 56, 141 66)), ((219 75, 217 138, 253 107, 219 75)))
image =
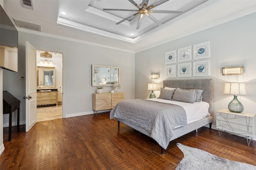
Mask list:
POLYGON ((196 89, 184 90, 176 88, 172 100, 186 103, 194 103, 196 97, 196 89))

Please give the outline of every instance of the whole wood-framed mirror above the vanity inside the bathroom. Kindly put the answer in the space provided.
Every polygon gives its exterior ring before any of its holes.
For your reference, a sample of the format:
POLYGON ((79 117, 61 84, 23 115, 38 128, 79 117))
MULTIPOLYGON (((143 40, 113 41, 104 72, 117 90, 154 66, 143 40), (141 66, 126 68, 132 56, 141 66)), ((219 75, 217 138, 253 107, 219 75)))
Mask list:
POLYGON ((55 87, 55 67, 37 66, 36 73, 38 88, 55 87))

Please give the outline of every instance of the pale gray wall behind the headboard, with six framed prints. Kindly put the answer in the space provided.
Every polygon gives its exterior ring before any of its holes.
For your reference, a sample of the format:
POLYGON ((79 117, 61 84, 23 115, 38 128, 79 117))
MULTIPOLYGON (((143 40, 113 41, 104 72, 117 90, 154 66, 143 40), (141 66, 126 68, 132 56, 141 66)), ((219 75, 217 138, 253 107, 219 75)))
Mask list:
MULTIPOLYGON (((245 82, 246 96, 238 96, 244 105, 244 111, 256 113, 256 13, 236 20, 194 33, 192 35, 159 45, 135 54, 135 98, 148 98, 150 90, 147 83, 152 82, 150 73, 160 72, 156 82, 165 80, 165 53, 183 47, 210 41, 210 58, 176 62, 193 63, 193 61, 210 60, 210 76, 176 77, 171 79, 214 80, 214 112, 227 109, 232 95, 222 94, 224 82, 245 82), (222 67, 244 66, 244 75, 222 76, 222 67)), ((172 65, 172 64, 170 64, 172 65)), ((193 64, 192 64, 193 65, 193 64)), ((192 70, 191 70, 192 71, 192 70)), ((160 91, 154 91, 159 96, 160 91)))

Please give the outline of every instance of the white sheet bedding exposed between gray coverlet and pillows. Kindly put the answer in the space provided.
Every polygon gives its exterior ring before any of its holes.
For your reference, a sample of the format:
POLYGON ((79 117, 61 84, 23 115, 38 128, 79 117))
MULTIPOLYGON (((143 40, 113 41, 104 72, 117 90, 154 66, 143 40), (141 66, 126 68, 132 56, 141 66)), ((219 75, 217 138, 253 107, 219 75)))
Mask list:
POLYGON ((188 123, 197 121, 206 116, 210 116, 210 113, 208 112, 209 104, 207 102, 203 102, 203 101, 202 102, 194 102, 192 104, 192 103, 178 102, 178 101, 158 99, 158 98, 152 98, 152 99, 147 99, 147 100, 176 104, 176 105, 182 106, 186 111, 188 123))

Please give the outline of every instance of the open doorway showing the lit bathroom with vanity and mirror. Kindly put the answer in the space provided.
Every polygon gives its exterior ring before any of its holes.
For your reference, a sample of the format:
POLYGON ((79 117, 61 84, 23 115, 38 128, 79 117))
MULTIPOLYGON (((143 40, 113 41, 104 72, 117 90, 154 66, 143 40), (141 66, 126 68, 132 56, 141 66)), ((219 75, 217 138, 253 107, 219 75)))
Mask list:
POLYGON ((62 56, 37 50, 37 121, 62 118, 62 56))

